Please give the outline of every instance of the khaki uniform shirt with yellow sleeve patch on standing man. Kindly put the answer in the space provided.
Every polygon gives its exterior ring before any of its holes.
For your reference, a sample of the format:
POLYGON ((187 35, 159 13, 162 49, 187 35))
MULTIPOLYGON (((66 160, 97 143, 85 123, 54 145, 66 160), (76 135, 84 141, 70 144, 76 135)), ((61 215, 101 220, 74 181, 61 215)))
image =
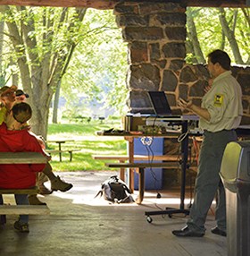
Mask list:
POLYGON ((230 71, 221 73, 202 100, 202 107, 211 115, 210 121, 200 118, 200 128, 209 132, 236 129, 243 115, 242 91, 230 71))

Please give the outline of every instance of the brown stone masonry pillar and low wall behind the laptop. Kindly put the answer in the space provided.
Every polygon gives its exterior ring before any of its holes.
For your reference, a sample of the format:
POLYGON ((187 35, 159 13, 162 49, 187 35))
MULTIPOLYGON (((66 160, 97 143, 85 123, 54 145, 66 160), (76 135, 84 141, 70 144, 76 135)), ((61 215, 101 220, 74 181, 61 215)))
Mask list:
MULTIPOLYGON (((153 112, 146 90, 166 92, 174 114, 180 114, 177 99, 200 104, 209 74, 202 65, 185 63, 186 8, 178 3, 122 2, 114 8, 116 21, 128 42, 131 113, 153 112)), ((243 124, 250 119, 250 68, 233 67, 243 90, 243 124)))

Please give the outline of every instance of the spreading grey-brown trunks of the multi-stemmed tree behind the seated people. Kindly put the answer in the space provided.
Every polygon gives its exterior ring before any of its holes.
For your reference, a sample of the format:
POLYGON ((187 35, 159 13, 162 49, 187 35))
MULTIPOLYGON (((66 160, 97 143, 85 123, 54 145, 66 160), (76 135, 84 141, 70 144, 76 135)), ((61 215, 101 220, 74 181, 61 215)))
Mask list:
POLYGON ((59 81, 62 80, 63 74, 66 72, 76 46, 72 39, 73 36, 79 34, 79 31, 76 30, 80 30, 76 20, 83 21, 86 9, 76 8, 74 20, 68 21, 69 10, 63 8, 57 28, 51 18, 54 17, 51 15, 54 10, 45 9, 43 15, 43 25, 46 26, 43 35, 44 41, 38 43, 36 36, 33 36, 36 31, 34 9, 17 7, 18 12, 22 13, 21 21, 15 21, 13 10, 13 7, 0 5, 1 12, 8 12, 9 17, 12 16, 12 21, 6 21, 6 24, 15 54, 18 57, 17 64, 20 69, 21 84, 23 90, 29 93, 28 102, 33 110, 30 120, 32 131, 46 139, 51 100, 57 87, 60 86, 59 81), (67 26, 68 32, 74 34, 65 38, 60 46, 54 47, 53 39, 56 38, 54 33, 62 28, 63 22, 65 22, 64 26, 67 26))

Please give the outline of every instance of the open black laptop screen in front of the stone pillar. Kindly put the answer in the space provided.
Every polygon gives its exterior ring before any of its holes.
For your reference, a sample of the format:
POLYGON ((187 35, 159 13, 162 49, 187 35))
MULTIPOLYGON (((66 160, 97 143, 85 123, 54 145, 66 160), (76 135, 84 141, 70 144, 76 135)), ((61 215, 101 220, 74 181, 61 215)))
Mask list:
POLYGON ((147 91, 147 93, 154 108, 155 115, 171 115, 171 107, 164 91, 147 91))

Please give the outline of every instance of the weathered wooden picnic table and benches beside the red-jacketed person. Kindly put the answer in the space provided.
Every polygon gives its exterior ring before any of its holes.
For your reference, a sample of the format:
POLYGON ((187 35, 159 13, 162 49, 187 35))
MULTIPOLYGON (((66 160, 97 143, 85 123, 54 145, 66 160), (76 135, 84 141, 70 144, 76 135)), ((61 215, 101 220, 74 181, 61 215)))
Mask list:
MULTIPOLYGON (((0 152, 0 164, 46 164, 47 159, 37 152, 0 152)), ((0 189, 0 194, 37 194, 37 187, 30 189, 0 189)), ((6 222, 6 214, 49 214, 46 205, 0 205, 1 223, 6 222)))

